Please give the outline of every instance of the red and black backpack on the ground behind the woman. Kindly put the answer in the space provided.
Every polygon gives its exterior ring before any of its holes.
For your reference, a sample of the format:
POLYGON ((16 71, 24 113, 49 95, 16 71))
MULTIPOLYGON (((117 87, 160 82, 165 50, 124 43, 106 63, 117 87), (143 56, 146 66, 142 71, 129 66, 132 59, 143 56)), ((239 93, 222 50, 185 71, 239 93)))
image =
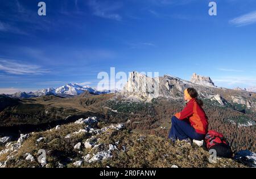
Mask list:
POLYGON ((223 134, 214 130, 209 130, 205 135, 204 146, 207 150, 216 150, 217 156, 230 158, 233 155, 231 147, 223 134))

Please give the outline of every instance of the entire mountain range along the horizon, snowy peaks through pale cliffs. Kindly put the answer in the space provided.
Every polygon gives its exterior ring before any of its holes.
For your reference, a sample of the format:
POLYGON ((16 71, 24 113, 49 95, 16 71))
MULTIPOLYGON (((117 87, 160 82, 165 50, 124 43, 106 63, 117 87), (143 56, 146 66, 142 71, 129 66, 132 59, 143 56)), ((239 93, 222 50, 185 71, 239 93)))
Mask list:
MULTIPOLYGON (((68 83, 65 86, 61 86, 59 88, 46 88, 43 90, 38 90, 35 92, 16 92, 13 95, 8 95, 10 97, 18 97, 18 98, 30 98, 30 97, 40 97, 40 96, 61 96, 61 97, 71 97, 78 96, 88 91, 92 95, 101 95, 105 93, 116 93, 116 92, 134 92, 132 96, 141 96, 143 99, 151 100, 155 97, 166 97, 166 98, 177 98, 180 95, 182 96, 183 90, 187 87, 195 87, 199 90, 199 93, 203 94, 202 97, 214 98, 221 105, 225 103, 225 99, 222 95, 220 95, 219 90, 230 90, 227 88, 217 87, 213 83, 212 79, 208 76, 200 76, 194 73, 190 81, 183 80, 171 75, 164 75, 163 77, 150 78, 146 75, 133 72, 129 74, 129 79, 127 81, 126 86, 122 91, 120 90, 103 90, 97 91, 96 89, 90 86, 80 86, 77 83, 68 83), (156 83, 159 84, 156 85, 156 83), (159 86, 159 89, 156 89, 156 86, 159 86), (212 89, 212 90, 210 90, 212 89), (158 90, 158 94, 155 91, 158 90), (215 91, 215 92, 214 92, 215 91)), ((237 92, 256 92, 256 87, 249 88, 234 88, 234 91, 237 92)), ((235 96, 235 95, 234 95, 235 96)), ((240 96, 240 95, 237 95, 240 96)), ((233 101, 236 101, 236 97, 232 97, 233 101)), ((139 98, 141 98, 139 97, 139 98)), ((240 103, 250 106, 251 101, 241 101, 240 103)), ((253 106, 254 106, 254 102, 253 106)), ((239 103, 238 103, 239 104, 239 103)))

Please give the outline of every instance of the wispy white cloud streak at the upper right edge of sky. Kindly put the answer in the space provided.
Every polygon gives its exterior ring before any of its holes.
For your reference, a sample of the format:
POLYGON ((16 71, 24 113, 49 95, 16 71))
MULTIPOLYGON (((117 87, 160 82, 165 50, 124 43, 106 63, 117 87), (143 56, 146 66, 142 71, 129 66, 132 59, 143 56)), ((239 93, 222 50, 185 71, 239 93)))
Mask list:
POLYGON ((256 23, 256 11, 234 18, 230 20, 229 23, 237 25, 238 27, 256 23))

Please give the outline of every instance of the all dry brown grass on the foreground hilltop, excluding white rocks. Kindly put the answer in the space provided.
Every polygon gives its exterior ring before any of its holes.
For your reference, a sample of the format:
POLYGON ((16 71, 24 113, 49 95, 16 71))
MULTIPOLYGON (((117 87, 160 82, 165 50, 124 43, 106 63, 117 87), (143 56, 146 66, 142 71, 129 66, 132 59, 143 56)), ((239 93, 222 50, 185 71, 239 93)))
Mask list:
MULTIPOLYGON (((100 124, 105 126, 104 123, 100 124)), ((97 150, 88 150, 82 148, 74 150, 75 144, 85 142, 90 138, 86 133, 73 135, 67 139, 67 134, 72 134, 79 129, 84 129, 84 125, 68 124, 63 125, 59 130, 43 131, 31 134, 23 143, 18 154, 14 159, 7 163, 7 167, 40 167, 37 161, 30 162, 24 160, 24 154, 32 154, 35 159, 38 157, 38 151, 44 149, 47 151, 48 167, 57 167, 59 163, 67 167, 74 167, 73 162, 81 160, 82 156, 87 154, 96 154, 97 150), (42 142, 36 142, 36 139, 44 137, 42 142), (67 161, 70 157, 73 161, 67 161)), ((131 134, 127 130, 117 131, 110 129, 105 133, 97 135, 102 148, 108 148, 109 144, 117 146, 118 150, 113 151, 113 157, 108 160, 102 160, 96 163, 83 163, 82 167, 243 167, 229 159, 221 159, 217 164, 211 164, 208 161, 209 154, 203 148, 191 146, 187 143, 171 143, 169 140, 156 137, 154 135, 131 134), (119 142, 116 144, 116 142, 119 142), (123 150, 123 147, 126 150, 123 150)), ((83 146, 83 145, 82 145, 83 146)))

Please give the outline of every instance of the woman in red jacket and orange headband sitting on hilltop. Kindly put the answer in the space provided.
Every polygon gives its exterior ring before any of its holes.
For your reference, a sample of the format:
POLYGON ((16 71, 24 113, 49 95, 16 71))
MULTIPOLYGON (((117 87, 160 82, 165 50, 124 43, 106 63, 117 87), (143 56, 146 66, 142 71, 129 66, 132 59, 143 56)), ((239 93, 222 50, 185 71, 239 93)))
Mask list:
POLYGON ((168 138, 172 141, 179 140, 204 140, 208 132, 208 118, 203 108, 203 101, 197 99, 194 88, 184 91, 184 100, 187 105, 172 117, 172 126, 168 138))

